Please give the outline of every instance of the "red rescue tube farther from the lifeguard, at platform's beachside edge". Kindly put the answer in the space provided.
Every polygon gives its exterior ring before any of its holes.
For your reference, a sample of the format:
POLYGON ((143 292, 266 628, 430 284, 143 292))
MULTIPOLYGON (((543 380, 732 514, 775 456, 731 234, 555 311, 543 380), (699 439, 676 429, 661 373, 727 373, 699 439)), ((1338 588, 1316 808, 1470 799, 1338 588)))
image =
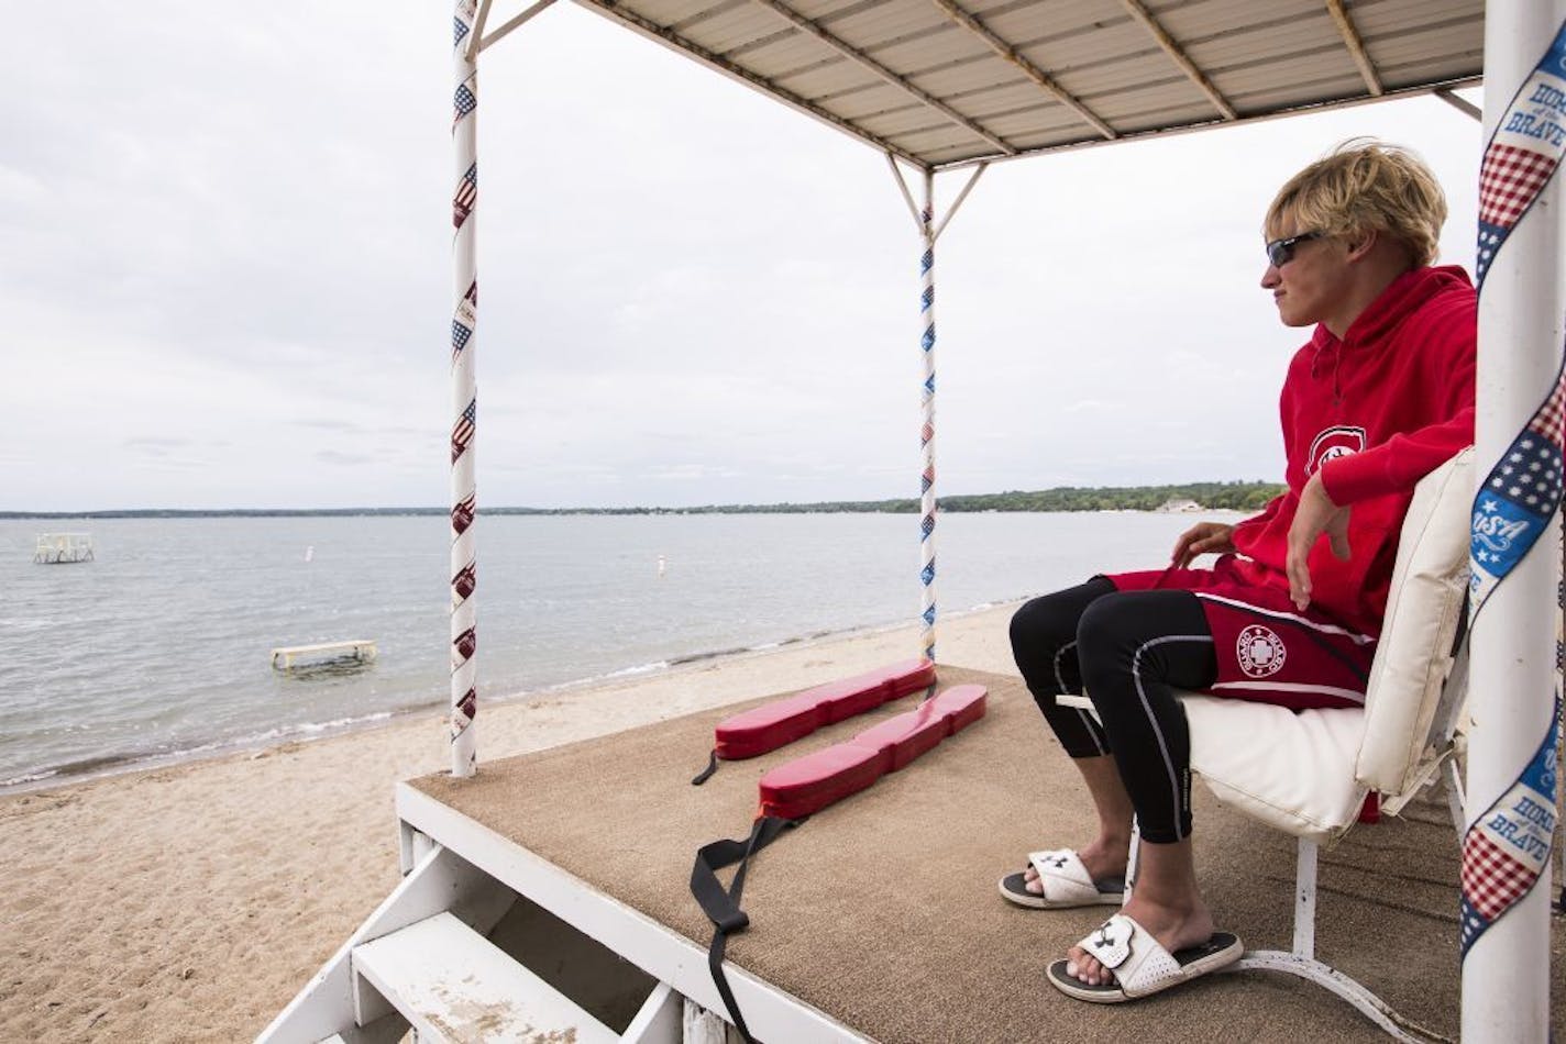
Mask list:
POLYGON ((755 758, 832 725, 874 711, 889 700, 935 684, 935 664, 904 661, 723 718, 714 751, 725 761, 755 758))

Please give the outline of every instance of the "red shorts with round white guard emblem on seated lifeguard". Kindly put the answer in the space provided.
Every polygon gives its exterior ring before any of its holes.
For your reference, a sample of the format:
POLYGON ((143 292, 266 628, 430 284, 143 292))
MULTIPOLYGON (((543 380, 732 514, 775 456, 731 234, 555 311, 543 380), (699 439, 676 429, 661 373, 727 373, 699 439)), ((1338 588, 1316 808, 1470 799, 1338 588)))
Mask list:
POLYGON ((1113 573, 1117 590, 1189 590, 1201 599, 1218 679, 1207 695, 1306 707, 1358 707, 1366 701, 1375 635, 1330 614, 1295 609, 1287 589, 1247 582, 1225 556, 1211 570, 1113 573))

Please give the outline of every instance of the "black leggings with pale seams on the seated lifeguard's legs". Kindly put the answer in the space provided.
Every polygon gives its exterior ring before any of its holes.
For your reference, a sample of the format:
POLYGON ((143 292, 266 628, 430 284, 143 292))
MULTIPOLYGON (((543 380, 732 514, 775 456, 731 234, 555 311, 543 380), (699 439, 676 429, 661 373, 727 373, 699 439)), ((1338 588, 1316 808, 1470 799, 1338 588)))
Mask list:
POLYGON ((1143 841, 1190 836, 1190 729, 1174 689, 1218 676, 1201 601, 1185 590, 1117 592, 1102 576, 1012 617, 1012 654, 1073 758, 1113 754, 1143 841), (1087 689, 1102 722, 1055 704, 1087 689))

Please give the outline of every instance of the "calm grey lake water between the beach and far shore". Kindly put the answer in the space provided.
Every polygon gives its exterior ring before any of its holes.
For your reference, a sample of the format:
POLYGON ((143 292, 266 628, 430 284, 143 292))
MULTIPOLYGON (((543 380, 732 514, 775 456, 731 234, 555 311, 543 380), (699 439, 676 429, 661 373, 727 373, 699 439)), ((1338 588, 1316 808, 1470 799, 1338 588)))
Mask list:
MULTIPOLYGON (((940 612, 1167 560, 1190 515, 946 513, 940 612)), ((479 520, 479 703, 919 612, 916 515, 479 520), (662 571, 659 573, 659 557, 662 571)), ((0 521, 0 789, 448 700, 443 517, 0 521), (34 565, 39 532, 96 560, 34 565), (355 668, 269 651, 374 639, 355 668)))

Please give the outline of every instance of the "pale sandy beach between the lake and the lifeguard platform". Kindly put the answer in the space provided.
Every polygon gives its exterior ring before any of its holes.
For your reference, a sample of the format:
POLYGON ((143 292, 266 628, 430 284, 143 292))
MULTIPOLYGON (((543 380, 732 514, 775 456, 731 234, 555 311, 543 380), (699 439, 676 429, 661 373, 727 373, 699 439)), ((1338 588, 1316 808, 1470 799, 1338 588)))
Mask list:
MULTIPOLYGON (((1010 612, 943 620, 941 659, 1013 673, 1010 612)), ((479 772, 915 654, 910 625, 492 701, 479 772)), ((429 714, 0 798, 0 1039, 252 1038, 398 883, 393 784, 448 769, 445 728, 429 714)))

